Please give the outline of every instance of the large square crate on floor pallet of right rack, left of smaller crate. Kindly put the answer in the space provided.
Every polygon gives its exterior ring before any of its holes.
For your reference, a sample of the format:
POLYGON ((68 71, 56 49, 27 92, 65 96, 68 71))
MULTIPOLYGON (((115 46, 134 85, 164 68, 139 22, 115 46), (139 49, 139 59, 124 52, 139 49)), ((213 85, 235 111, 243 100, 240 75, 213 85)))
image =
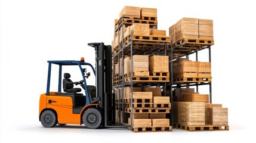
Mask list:
POLYGON ((179 102, 178 105, 181 125, 205 125, 205 102, 179 102))

